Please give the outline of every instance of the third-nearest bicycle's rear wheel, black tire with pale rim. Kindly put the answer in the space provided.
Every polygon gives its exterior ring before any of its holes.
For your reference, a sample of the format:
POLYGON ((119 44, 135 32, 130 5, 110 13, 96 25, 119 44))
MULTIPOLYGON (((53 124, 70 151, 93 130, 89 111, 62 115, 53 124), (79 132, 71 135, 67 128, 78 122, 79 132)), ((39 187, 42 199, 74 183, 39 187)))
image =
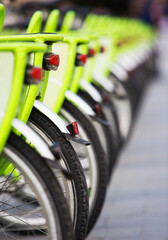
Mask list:
POLYGON ((83 145, 79 147, 79 145, 72 143, 84 169, 89 189, 88 234, 100 215, 106 194, 108 172, 104 151, 89 119, 71 102, 64 101, 60 115, 67 123, 76 119, 79 136, 91 142, 91 146, 87 147, 83 145))

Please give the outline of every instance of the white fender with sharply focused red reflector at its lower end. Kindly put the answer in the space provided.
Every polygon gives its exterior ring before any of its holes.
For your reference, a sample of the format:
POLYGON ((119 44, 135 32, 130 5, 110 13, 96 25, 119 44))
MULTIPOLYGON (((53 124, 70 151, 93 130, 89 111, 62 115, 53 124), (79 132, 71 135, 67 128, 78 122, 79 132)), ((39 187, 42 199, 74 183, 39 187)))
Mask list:
POLYGON ((39 100, 35 100, 34 107, 48 117, 60 129, 61 132, 70 134, 64 121, 52 109, 47 107, 39 100))

